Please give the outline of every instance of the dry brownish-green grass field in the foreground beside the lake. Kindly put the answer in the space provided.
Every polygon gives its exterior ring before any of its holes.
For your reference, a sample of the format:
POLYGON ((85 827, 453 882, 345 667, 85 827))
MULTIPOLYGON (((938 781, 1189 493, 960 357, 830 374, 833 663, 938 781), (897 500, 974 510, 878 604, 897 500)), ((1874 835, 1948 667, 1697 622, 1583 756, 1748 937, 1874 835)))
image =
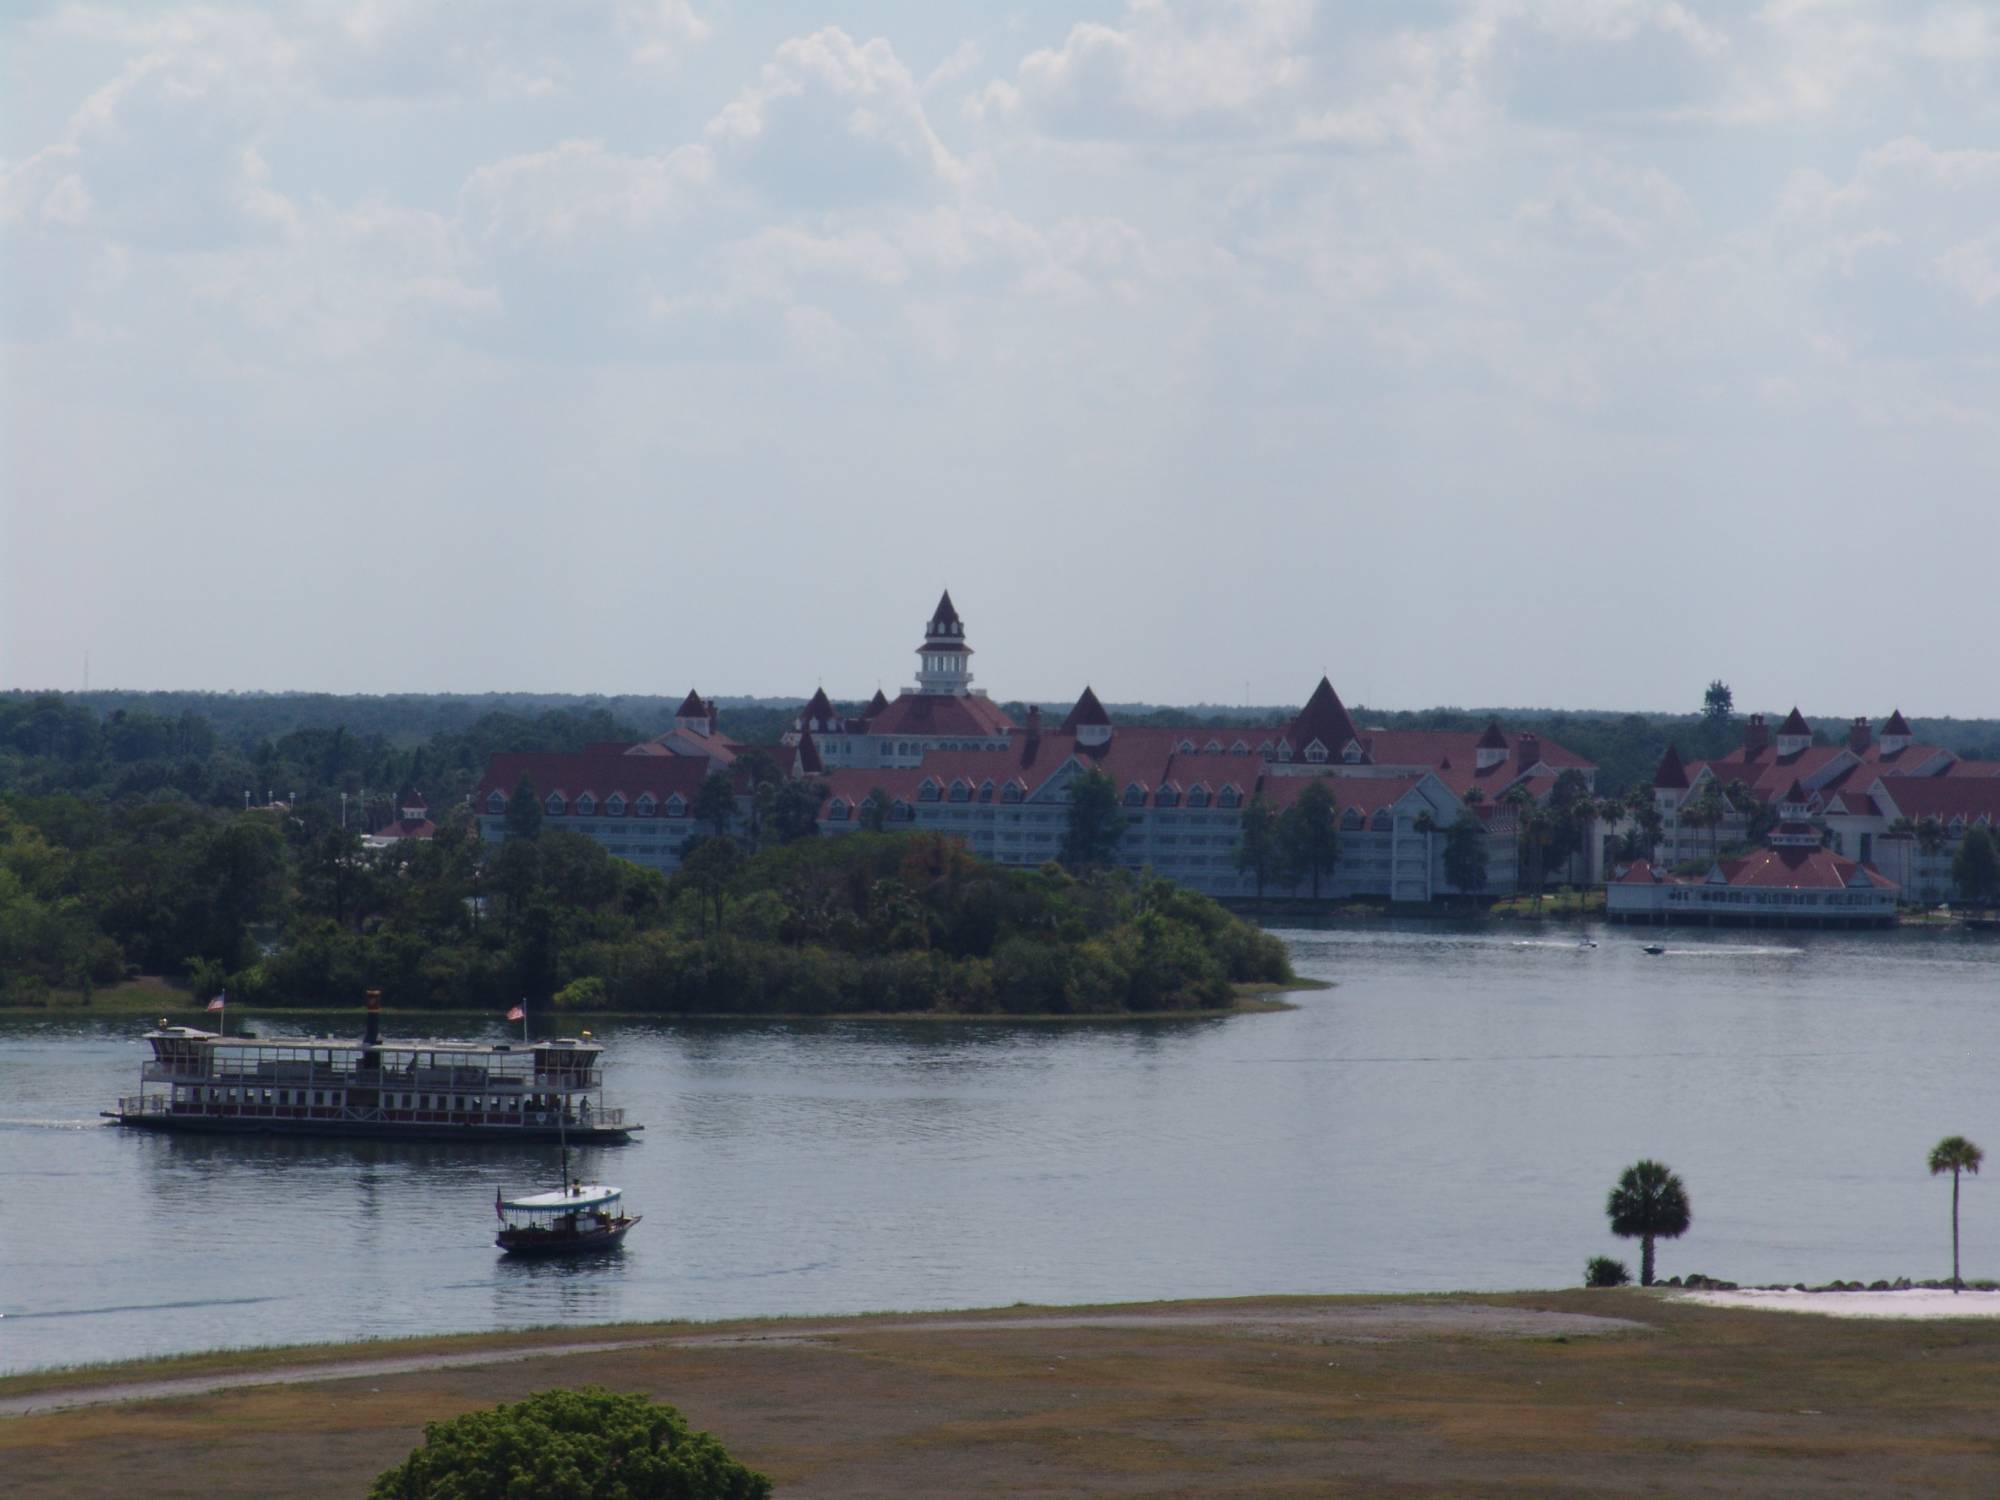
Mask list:
POLYGON ((310 1378, 0 1418, 0 1488, 352 1496, 426 1420, 596 1382, 674 1402, 780 1496, 2000 1492, 2000 1324, 1638 1290, 570 1328, 16 1378, 0 1404, 284 1364, 310 1378), (532 1352, 584 1338, 644 1342, 532 1352), (388 1352, 480 1362, 320 1368, 388 1352))

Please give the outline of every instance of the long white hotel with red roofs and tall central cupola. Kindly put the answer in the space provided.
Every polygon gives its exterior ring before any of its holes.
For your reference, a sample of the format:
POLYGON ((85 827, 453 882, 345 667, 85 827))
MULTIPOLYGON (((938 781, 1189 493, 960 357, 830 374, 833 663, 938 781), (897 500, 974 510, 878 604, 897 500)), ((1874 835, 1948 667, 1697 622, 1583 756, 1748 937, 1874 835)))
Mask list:
MULTIPOLYGON (((1244 808, 1262 798, 1282 814, 1302 788, 1326 780, 1340 858, 1320 894, 1428 902, 1458 890, 1444 872, 1444 844, 1460 818, 1486 834, 1478 890, 1506 894, 1516 884, 1516 830, 1502 798, 1524 788, 1546 802, 1564 772, 1588 790, 1596 782, 1582 756, 1498 722, 1484 732, 1362 728, 1326 678, 1296 714, 1262 726, 1120 726, 1090 686, 1060 722, 1044 724, 1038 708, 1010 714, 972 686, 972 646, 950 594, 916 656, 916 682, 894 700, 876 692, 844 714, 818 690, 774 746, 732 740, 716 706, 690 692, 674 726, 652 740, 496 754, 474 792, 480 836, 506 838, 508 802, 526 784, 544 826, 674 870, 690 838, 708 832, 696 816, 706 778, 732 778, 748 810, 754 788, 740 762, 760 752, 782 776, 818 788, 822 834, 864 826, 882 802, 890 828, 954 834, 982 858, 1036 866, 1062 850, 1070 784, 1096 770, 1110 778, 1126 820, 1120 864, 1244 896, 1256 892, 1254 876, 1236 868, 1244 808)), ((1300 892, 1308 888, 1300 882, 1300 892)), ((1284 892, 1266 884, 1266 894, 1284 892)))

